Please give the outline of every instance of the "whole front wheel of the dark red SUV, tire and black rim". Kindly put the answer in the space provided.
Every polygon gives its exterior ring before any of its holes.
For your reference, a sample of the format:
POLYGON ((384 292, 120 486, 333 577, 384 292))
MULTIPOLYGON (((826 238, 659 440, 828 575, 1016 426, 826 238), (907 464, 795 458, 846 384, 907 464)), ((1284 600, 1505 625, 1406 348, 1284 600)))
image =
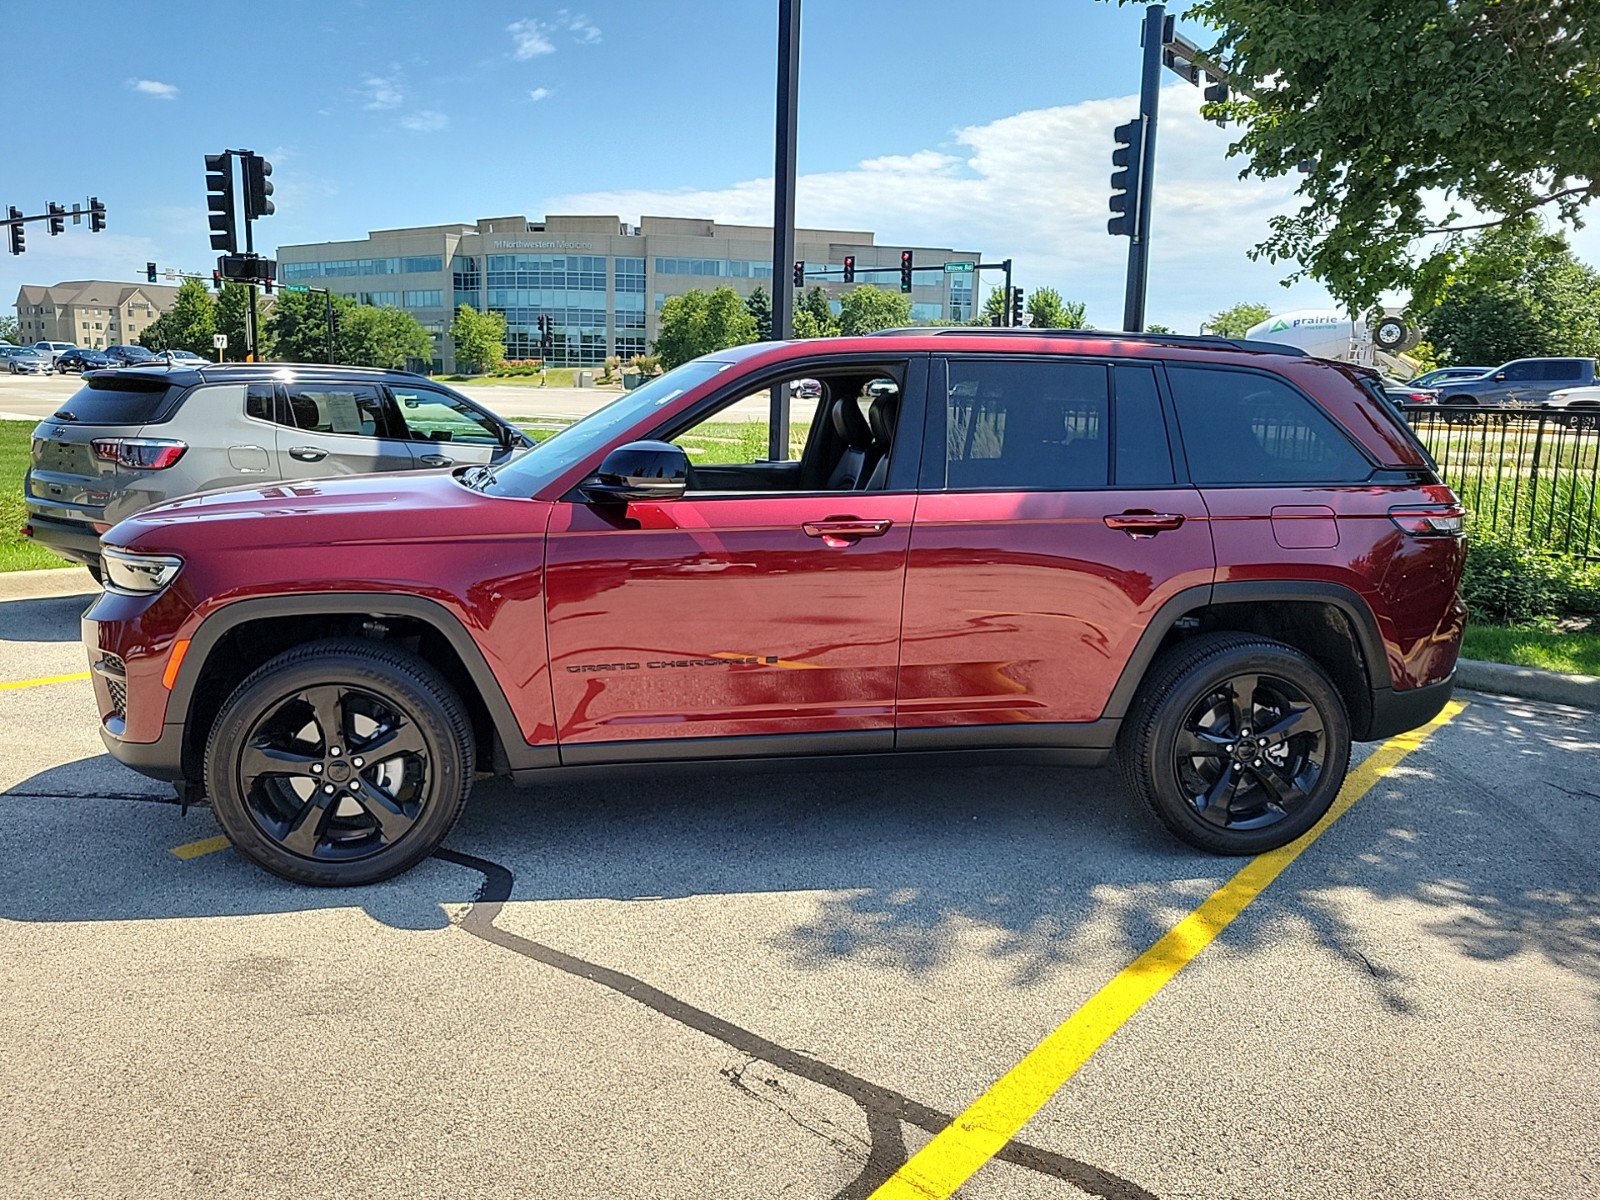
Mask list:
POLYGON ((376 883, 454 827, 472 789, 472 725, 411 654, 314 642, 234 690, 205 779, 222 832, 259 867, 325 888, 376 883))

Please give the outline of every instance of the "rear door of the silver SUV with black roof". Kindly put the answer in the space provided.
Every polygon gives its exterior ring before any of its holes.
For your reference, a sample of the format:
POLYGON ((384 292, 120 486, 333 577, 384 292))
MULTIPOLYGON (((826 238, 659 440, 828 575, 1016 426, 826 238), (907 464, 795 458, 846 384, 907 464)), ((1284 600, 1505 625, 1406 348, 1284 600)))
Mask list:
POLYGON ((283 478, 370 475, 416 466, 405 426, 379 384, 302 379, 283 386, 288 427, 277 430, 283 478))

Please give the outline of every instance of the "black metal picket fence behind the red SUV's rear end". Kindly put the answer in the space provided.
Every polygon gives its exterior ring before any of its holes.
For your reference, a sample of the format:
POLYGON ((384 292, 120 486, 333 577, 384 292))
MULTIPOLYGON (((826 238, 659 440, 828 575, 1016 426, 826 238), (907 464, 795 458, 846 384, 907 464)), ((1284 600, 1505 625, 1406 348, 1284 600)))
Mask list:
POLYGON ((1494 530, 1600 560, 1600 411, 1406 405, 1445 483, 1494 530))

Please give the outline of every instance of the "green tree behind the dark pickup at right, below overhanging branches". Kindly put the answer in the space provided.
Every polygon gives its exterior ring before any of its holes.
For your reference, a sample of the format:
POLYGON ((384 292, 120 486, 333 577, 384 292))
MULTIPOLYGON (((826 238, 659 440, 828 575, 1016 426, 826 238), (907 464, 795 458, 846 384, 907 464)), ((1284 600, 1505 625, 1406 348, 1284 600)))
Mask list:
POLYGON ((1424 314, 1446 362, 1600 355, 1600 272, 1536 219, 1486 229, 1464 250, 1443 301, 1424 314))

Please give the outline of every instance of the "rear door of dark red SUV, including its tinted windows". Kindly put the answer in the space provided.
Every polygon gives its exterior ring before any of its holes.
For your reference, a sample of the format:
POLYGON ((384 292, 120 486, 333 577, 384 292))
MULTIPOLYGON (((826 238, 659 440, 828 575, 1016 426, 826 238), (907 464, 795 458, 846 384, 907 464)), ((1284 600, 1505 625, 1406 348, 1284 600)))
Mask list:
POLYGON ((898 746, 1070 741, 1155 611, 1211 582, 1154 363, 936 360, 922 469, 898 746))

